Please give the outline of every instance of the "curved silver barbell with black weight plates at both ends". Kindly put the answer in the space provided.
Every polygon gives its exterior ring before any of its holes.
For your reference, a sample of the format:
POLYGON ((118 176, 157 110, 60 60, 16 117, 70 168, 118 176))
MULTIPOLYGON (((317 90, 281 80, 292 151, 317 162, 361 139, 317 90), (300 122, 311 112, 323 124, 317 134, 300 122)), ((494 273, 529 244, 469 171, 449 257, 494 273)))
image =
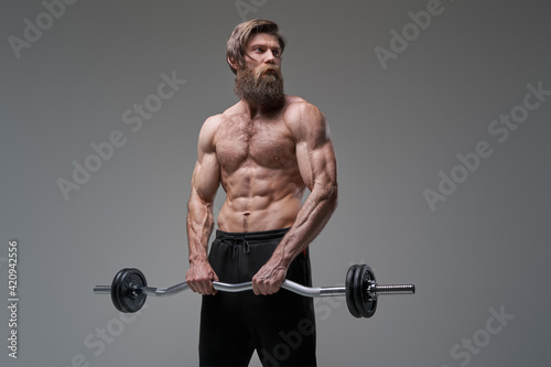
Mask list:
MULTIPOLYGON (((252 282, 229 284, 213 282, 214 289, 222 292, 245 292, 252 290, 252 282)), ((117 310, 125 313, 139 311, 148 295, 169 296, 181 293, 190 287, 186 282, 169 288, 148 287, 145 276, 138 269, 126 268, 112 279, 111 285, 96 285, 94 293, 111 294, 111 301, 117 310)), ((413 294, 413 284, 377 284, 375 273, 367 265, 354 265, 346 272, 345 287, 311 288, 285 279, 281 288, 296 294, 317 296, 346 296, 346 305, 354 317, 371 317, 377 310, 379 295, 413 294)))

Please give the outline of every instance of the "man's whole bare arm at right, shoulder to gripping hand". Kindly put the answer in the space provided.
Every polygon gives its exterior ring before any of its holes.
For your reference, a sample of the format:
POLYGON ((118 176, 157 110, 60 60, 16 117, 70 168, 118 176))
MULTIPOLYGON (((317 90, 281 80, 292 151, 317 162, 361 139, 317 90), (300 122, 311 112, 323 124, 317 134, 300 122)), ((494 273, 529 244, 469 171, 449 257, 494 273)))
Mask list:
POLYGON ((335 150, 325 117, 315 106, 301 101, 291 105, 284 118, 296 141, 299 169, 311 193, 270 260, 252 278, 255 294, 279 291, 291 261, 317 237, 337 206, 335 150))

